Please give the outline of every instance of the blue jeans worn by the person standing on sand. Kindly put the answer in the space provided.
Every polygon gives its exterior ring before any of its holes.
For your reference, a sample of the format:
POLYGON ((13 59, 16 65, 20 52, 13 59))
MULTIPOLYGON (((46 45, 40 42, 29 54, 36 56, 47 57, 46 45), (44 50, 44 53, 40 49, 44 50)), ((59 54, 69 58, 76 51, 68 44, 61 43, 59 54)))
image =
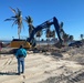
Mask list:
POLYGON ((18 73, 24 73, 24 58, 18 58, 18 73))

